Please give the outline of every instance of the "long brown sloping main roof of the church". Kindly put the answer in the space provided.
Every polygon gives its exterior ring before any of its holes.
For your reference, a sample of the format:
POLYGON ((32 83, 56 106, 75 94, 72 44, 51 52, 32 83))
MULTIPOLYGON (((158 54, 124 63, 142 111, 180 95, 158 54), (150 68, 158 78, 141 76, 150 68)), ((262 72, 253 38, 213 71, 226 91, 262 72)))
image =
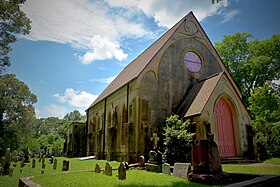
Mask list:
MULTIPOLYGON (((98 96, 98 98, 90 105, 93 107, 118 89, 125 86, 130 81, 137 78, 145 67, 152 61, 154 56, 164 46, 164 44, 173 36, 175 31, 183 24, 186 17, 193 15, 192 12, 188 13, 182 18, 176 25, 169 29, 164 35, 162 35, 157 41, 155 41, 149 48, 141 53, 136 59, 128 64, 121 73, 105 88, 105 90, 98 96)), ((193 15, 194 16, 194 15, 193 15)))

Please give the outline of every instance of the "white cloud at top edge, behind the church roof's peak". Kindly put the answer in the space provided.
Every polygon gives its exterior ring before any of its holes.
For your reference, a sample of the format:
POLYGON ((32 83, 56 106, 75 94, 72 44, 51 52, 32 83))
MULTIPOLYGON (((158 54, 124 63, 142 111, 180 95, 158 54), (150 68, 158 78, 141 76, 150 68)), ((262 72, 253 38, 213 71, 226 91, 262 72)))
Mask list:
POLYGON ((216 14, 222 7, 228 6, 223 0, 212 4, 211 0, 105 0, 111 7, 138 9, 153 17, 159 26, 170 28, 188 12, 193 11, 199 21, 216 14))

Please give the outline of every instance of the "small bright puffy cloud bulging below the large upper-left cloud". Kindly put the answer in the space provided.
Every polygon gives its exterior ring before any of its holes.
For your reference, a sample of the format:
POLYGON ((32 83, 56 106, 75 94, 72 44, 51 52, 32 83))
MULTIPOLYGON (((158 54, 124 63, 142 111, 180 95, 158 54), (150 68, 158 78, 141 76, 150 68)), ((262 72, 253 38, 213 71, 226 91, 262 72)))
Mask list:
POLYGON ((79 57, 83 64, 89 64, 95 60, 105 60, 112 57, 118 61, 125 60, 127 54, 123 52, 118 43, 110 41, 107 37, 95 35, 90 41, 92 51, 79 57))

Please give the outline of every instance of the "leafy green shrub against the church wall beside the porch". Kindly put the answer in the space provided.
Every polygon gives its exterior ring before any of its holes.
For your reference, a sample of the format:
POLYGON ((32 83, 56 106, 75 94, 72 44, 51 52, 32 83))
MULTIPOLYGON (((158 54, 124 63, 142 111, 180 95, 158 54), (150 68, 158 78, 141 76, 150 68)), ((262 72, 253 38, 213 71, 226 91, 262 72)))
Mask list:
POLYGON ((163 159, 175 162, 191 162, 192 136, 189 132, 189 121, 183 122, 178 115, 166 119, 164 128, 163 159))

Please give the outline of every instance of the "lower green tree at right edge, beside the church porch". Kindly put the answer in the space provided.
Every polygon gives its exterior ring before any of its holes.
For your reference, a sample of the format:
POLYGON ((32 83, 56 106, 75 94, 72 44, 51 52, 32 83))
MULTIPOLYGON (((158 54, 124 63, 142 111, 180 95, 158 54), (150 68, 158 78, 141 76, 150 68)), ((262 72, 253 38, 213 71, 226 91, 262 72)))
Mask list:
POLYGON ((249 98, 255 143, 261 159, 280 157, 280 99, 271 84, 256 88, 249 98))

